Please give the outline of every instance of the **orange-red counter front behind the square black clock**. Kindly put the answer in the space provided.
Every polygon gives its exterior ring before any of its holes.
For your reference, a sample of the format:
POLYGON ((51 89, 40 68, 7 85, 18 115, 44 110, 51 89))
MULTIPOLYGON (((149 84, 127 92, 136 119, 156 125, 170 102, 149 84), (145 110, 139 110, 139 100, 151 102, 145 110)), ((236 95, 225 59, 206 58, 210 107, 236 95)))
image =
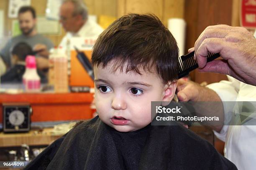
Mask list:
POLYGON ((32 122, 59 121, 59 120, 85 120, 92 118, 90 108, 93 100, 91 93, 23 93, 0 94, 0 122, 3 121, 2 103, 28 102, 33 114, 32 122))

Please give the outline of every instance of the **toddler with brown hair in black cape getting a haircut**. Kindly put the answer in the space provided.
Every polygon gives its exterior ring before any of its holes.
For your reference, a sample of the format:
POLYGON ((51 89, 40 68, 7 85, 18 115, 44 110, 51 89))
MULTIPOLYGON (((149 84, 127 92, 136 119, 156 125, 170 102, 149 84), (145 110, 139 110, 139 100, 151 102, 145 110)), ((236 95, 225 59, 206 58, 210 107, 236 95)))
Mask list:
POLYGON ((56 140, 26 170, 234 170, 207 141, 177 123, 151 126, 151 101, 171 101, 178 47, 153 15, 125 15, 92 53, 99 116, 56 140))

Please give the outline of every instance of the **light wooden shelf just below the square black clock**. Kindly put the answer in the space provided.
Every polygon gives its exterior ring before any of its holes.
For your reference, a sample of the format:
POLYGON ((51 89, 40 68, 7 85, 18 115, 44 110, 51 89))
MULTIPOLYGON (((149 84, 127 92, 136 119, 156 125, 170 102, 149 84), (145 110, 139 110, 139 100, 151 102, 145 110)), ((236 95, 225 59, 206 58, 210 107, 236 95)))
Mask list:
POLYGON ((28 133, 0 133, 0 147, 14 147, 27 145, 49 145, 62 135, 51 135, 53 128, 45 128, 42 133, 35 134, 37 130, 30 130, 28 133))

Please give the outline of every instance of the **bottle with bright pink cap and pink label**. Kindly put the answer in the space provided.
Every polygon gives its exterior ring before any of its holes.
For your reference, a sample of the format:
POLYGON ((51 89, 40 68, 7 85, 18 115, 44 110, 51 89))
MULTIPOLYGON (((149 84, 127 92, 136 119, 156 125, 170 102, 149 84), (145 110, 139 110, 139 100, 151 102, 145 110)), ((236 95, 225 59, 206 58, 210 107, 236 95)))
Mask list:
POLYGON ((23 74, 23 85, 26 92, 40 92, 40 77, 36 71, 36 57, 26 57, 26 71, 23 74))

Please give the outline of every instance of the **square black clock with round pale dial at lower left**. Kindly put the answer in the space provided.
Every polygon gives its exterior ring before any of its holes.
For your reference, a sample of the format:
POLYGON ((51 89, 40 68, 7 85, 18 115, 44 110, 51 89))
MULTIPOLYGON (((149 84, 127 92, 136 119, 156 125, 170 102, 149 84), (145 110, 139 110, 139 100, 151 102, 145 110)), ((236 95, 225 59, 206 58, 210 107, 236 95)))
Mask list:
POLYGON ((4 106, 4 131, 25 132, 30 129, 29 106, 4 106))

